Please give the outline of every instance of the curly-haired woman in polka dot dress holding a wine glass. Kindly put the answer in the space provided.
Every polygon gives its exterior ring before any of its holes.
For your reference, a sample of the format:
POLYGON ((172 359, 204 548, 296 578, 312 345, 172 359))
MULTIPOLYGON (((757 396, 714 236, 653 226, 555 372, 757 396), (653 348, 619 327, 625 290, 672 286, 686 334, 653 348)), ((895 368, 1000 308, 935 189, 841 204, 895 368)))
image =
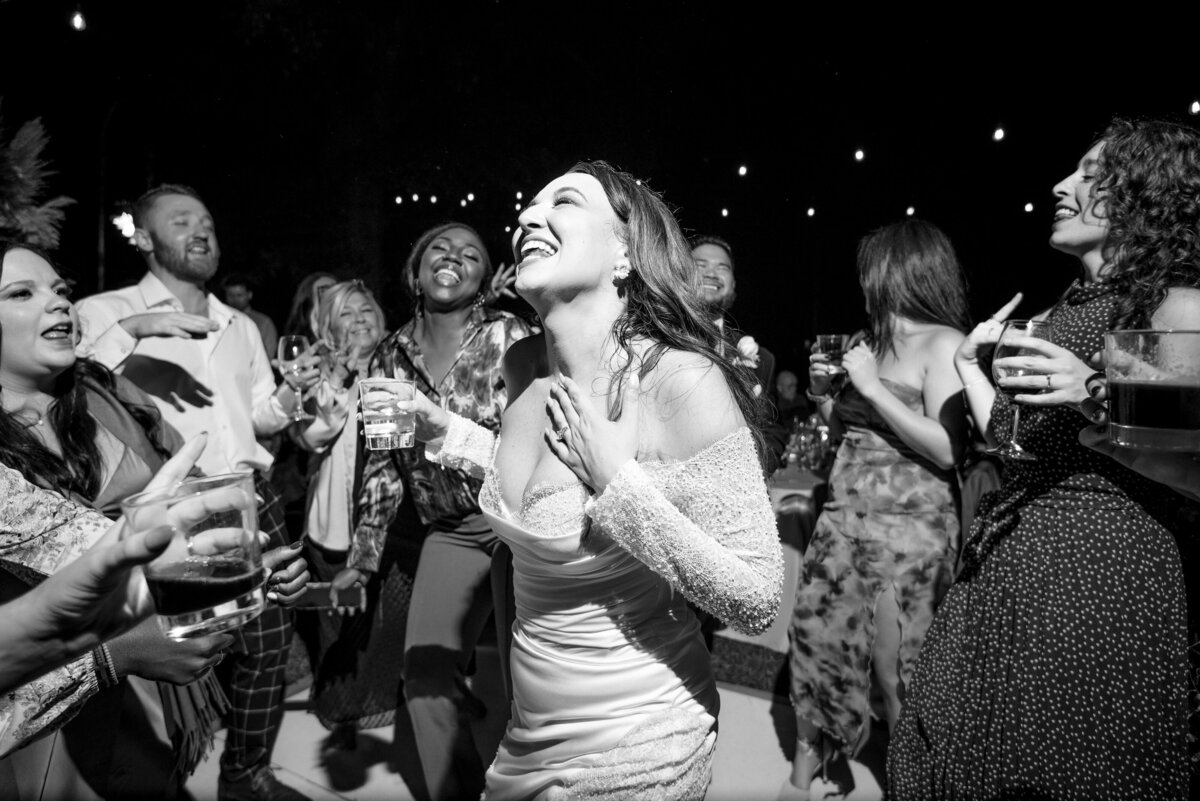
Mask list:
POLYGON ((1106 330, 1200 329, 1200 134, 1117 120, 1055 195, 1050 246, 1081 276, 1039 315, 1052 344, 1018 339, 1031 355, 997 360, 1025 372, 1001 379, 1015 397, 978 366, 998 321, 955 355, 995 439, 1013 403, 1037 409, 1019 432, 1037 460, 1006 464, 980 505, 892 741, 896 799, 1187 794, 1180 542, 1195 507, 1081 445, 1076 409, 1096 411, 1087 362, 1106 330))

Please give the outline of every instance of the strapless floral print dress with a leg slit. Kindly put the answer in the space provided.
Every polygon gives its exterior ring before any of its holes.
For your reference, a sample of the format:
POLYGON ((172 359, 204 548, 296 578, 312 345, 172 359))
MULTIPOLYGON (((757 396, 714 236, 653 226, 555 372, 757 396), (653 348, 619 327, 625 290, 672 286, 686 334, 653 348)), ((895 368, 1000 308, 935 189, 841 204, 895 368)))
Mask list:
MULTIPOLYGON (((920 390, 882 379, 910 409, 920 390)), ((847 754, 870 715, 875 606, 889 586, 900 608, 899 668, 907 685, 949 585, 958 552, 958 484, 896 436, 853 385, 834 410, 846 428, 829 498, 804 553, 791 627, 792 704, 847 754)))

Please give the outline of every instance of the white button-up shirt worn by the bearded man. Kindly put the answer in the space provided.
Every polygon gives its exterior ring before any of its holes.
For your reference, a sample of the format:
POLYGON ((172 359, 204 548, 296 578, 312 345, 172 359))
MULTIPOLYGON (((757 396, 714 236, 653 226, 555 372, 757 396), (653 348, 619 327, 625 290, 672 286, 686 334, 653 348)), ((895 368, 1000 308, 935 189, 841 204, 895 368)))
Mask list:
MULTIPOLYGON (((197 462, 206 475, 266 470, 274 457, 256 436, 286 428, 290 418, 276 397, 263 339, 241 312, 212 294, 208 303, 209 319, 221 327, 203 338, 134 338, 120 320, 184 311, 182 302, 148 272, 133 287, 79 301, 83 337, 76 353, 142 387, 184 439, 208 432, 208 446, 197 462)), ((280 395, 294 405, 290 389, 280 387, 280 395)))

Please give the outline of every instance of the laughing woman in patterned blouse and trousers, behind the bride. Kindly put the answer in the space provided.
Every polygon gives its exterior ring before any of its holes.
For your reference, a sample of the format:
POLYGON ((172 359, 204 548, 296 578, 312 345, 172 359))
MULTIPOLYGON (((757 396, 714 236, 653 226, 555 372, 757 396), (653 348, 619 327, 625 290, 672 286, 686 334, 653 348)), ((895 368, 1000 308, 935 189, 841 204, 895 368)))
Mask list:
MULTIPOLYGON (((404 263, 413 319, 379 344, 370 375, 409 379, 442 408, 498 428, 508 403, 500 361, 529 327, 485 305, 491 276, 475 229, 425 231, 404 263)), ((434 800, 476 797, 484 787, 470 729, 481 705, 464 676, 493 608, 498 540, 478 495, 478 480, 431 463, 425 448, 368 451, 347 567, 335 579, 370 588, 370 577, 388 577, 384 590, 403 594, 394 603, 412 588, 404 700, 434 800)))

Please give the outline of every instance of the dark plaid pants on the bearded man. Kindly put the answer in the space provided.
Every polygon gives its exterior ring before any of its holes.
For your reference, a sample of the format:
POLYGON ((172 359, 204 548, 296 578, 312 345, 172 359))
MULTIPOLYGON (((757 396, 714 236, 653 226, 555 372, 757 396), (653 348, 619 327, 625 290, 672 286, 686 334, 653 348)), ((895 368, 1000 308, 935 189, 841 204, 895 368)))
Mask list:
MULTIPOLYGON (((269 538, 263 549, 287 546, 283 502, 278 493, 257 471, 254 489, 263 499, 258 507, 258 528, 269 538)), ((233 650, 222 664, 229 677, 226 748, 221 754, 221 776, 226 781, 242 778, 252 769, 271 761, 283 722, 284 671, 290 648, 292 610, 270 602, 263 614, 234 632, 233 650)))

